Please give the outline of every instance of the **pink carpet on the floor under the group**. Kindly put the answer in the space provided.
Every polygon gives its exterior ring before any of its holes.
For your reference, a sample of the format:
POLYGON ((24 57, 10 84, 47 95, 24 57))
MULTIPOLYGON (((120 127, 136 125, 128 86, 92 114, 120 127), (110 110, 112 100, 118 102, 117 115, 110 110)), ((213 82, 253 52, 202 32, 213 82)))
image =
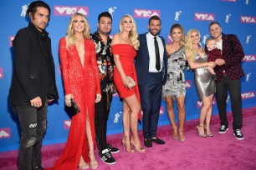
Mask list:
MULTIPOLYGON (((233 136, 232 115, 228 114, 229 130, 225 134, 218 133, 218 115, 212 117, 213 138, 199 138, 195 127, 198 120, 186 122, 186 141, 181 143, 171 136, 170 125, 158 128, 158 137, 166 141, 165 145, 153 143, 152 148, 146 148, 146 153, 126 153, 120 140, 122 134, 108 136, 113 146, 120 148, 120 153, 113 154, 116 164, 106 165, 99 155, 97 169, 112 170, 169 170, 169 169, 256 169, 256 107, 243 109, 243 141, 233 136)), ((141 141, 142 132, 140 131, 141 141)), ((64 148, 64 143, 44 146, 43 166, 52 167, 64 148)), ((96 151, 97 153, 97 151, 96 151)), ((15 170, 17 168, 18 152, 0 153, 0 169, 15 170)))

